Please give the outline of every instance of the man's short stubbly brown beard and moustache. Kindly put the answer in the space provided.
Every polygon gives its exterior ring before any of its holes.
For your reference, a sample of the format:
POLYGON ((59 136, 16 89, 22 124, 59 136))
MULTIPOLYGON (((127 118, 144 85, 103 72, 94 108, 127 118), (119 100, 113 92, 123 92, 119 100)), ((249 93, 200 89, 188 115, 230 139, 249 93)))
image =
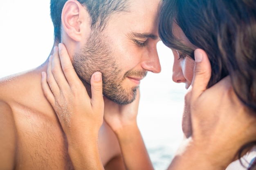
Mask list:
POLYGON ((103 95, 117 104, 129 104, 135 100, 138 86, 125 89, 122 82, 128 75, 144 77, 147 72, 130 70, 119 75, 122 69, 115 61, 111 44, 110 38, 103 33, 92 33, 83 49, 73 56, 73 66, 81 81, 87 84, 90 84, 92 74, 100 71, 103 95))

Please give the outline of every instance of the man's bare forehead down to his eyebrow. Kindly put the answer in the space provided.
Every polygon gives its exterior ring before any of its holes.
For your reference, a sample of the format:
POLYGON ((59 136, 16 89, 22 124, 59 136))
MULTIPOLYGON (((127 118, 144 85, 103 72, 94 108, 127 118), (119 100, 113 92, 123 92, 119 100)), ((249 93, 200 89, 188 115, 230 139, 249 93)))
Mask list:
POLYGON ((133 38, 151 38, 158 40, 158 13, 159 0, 128 0, 126 11, 111 15, 108 22, 110 29, 119 30, 133 38), (137 4, 136 4, 137 3, 137 4))

